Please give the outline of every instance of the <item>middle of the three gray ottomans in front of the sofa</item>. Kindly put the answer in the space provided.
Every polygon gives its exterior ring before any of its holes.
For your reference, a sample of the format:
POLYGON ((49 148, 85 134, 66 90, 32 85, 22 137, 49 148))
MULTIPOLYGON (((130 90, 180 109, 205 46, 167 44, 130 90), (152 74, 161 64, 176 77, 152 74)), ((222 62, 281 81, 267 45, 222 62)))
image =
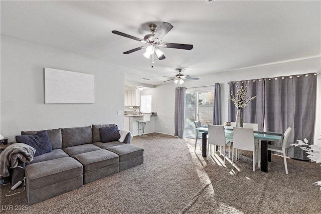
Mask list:
POLYGON ((77 154, 74 157, 83 165, 84 184, 119 171, 118 155, 105 149, 77 154))

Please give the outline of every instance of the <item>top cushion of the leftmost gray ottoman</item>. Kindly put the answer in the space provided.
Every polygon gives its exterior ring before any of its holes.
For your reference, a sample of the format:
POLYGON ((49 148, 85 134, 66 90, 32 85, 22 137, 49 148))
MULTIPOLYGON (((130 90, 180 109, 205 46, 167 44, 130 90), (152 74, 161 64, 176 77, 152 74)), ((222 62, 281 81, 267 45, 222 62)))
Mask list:
POLYGON ((62 157, 39 163, 29 164, 25 168, 29 190, 50 186, 74 177, 82 176, 82 164, 72 157, 62 157))

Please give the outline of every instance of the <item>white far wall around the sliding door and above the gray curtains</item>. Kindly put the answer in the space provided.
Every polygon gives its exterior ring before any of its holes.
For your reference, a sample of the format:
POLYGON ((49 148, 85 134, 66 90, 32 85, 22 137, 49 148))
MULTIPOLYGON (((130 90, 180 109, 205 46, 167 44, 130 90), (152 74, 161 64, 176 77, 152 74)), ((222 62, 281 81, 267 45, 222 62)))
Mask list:
MULTIPOLYGON (((321 58, 311 58, 305 60, 297 60, 285 63, 278 63, 273 65, 260 66, 255 68, 240 69, 229 72, 216 73, 212 75, 199 76, 197 73, 192 74, 193 77, 199 77, 200 80, 186 81, 182 86, 187 88, 200 87, 214 85, 215 83, 221 83, 221 108, 222 108, 222 122, 228 120, 228 97, 229 88, 228 82, 238 80, 259 79, 265 77, 278 77, 288 76, 293 74, 304 74, 311 72, 318 72, 318 88, 317 88, 317 108, 316 108, 316 123, 315 123, 315 138, 317 140, 321 134, 321 74, 320 74, 321 58)), ((159 119, 158 125, 155 126, 155 132, 174 134, 174 99, 175 90, 174 84, 165 84, 157 86, 154 90, 154 95, 157 103, 157 114, 166 117, 165 119, 159 119), (172 113, 169 111, 172 110, 172 113), (164 127, 172 127, 171 129, 165 129, 164 127)))

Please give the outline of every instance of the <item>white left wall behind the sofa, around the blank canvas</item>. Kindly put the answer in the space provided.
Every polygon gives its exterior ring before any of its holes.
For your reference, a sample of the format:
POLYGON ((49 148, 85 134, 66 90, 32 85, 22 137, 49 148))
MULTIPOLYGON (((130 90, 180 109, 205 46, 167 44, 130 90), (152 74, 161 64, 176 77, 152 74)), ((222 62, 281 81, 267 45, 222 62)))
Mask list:
POLYGON ((1 134, 116 123, 123 128, 124 70, 99 60, 1 36, 1 134), (94 75, 94 104, 45 104, 44 69, 94 75))

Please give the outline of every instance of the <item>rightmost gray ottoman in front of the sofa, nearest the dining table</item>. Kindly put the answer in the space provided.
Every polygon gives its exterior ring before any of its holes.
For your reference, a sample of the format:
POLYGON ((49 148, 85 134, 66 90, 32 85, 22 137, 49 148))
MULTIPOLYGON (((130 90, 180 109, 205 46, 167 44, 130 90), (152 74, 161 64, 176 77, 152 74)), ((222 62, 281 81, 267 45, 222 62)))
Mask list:
POLYGON ((133 144, 123 144, 107 148, 119 156, 119 171, 131 168, 144 162, 144 150, 133 144))

